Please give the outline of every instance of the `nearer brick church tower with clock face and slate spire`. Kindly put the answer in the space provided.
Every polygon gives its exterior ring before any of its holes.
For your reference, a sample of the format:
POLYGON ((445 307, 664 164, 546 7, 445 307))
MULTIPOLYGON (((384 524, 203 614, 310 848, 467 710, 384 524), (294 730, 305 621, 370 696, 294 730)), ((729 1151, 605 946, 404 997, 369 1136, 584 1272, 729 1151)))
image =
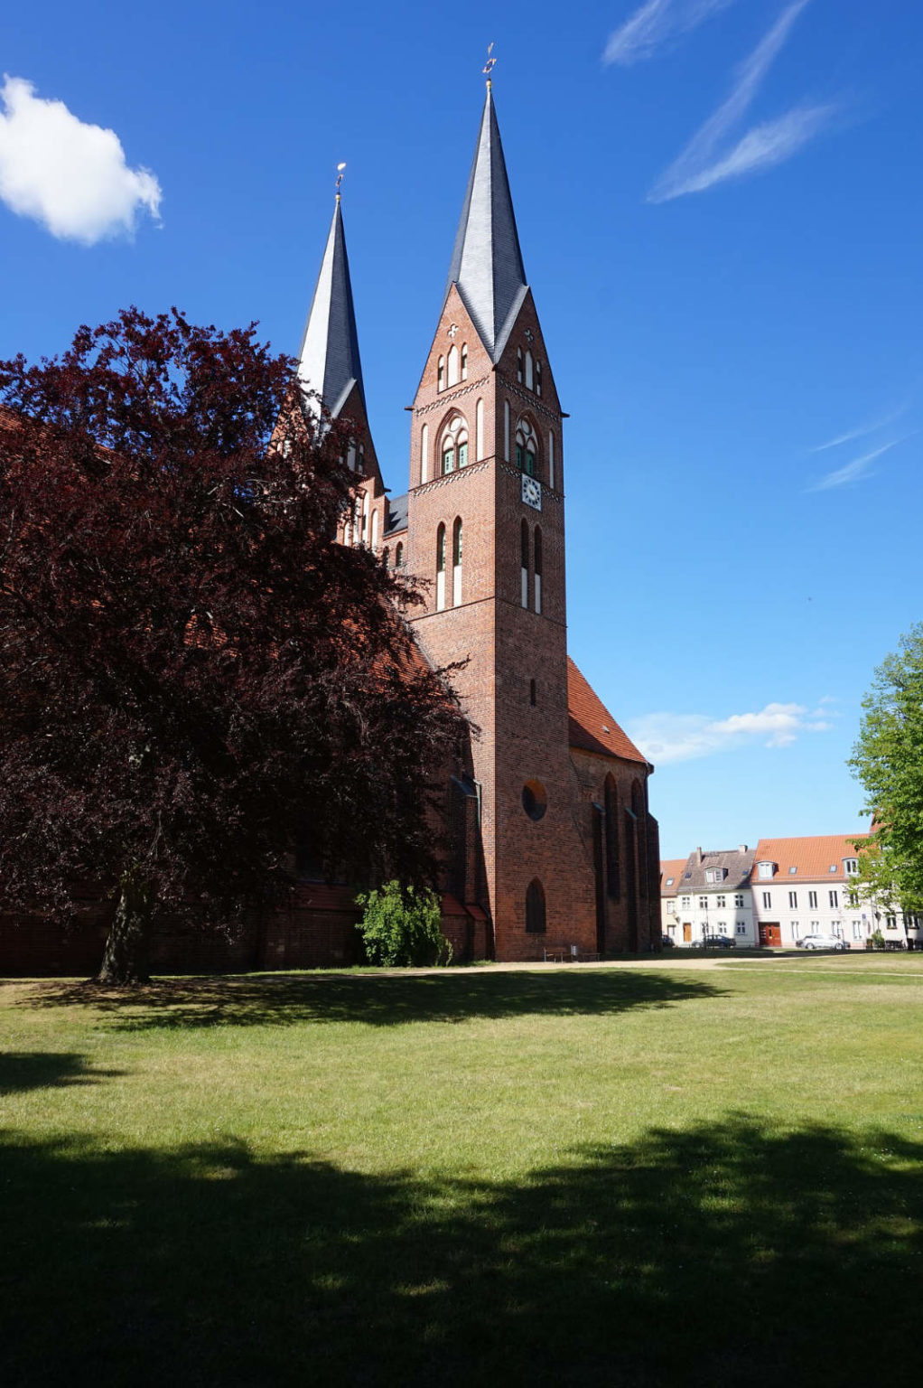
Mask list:
POLYGON ((412 405, 415 618, 477 733, 497 958, 601 948, 569 755, 562 411, 526 280, 490 82, 436 336, 412 405))

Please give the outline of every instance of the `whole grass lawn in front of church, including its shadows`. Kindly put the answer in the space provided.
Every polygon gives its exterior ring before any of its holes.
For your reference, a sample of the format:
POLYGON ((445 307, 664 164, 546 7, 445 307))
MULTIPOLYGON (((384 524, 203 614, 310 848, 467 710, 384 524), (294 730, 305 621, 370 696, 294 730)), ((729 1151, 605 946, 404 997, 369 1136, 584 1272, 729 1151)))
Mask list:
POLYGON ((0 987, 0 1378, 923 1381, 923 955, 0 987))

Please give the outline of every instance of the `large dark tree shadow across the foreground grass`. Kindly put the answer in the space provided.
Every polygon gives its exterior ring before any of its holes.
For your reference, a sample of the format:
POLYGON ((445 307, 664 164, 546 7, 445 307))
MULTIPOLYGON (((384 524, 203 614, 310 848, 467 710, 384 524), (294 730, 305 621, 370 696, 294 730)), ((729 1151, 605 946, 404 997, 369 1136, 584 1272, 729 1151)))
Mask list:
POLYGON ((919 1384, 923 1144, 750 1119, 526 1183, 0 1149, 10 1384, 919 1384))

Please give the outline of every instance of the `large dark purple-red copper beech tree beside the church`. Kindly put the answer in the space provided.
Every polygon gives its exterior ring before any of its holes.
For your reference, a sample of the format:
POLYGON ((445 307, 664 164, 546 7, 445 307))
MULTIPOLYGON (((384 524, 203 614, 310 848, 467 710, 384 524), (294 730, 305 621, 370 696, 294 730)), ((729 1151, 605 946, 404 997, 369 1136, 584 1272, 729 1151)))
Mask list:
POLYGON ((462 719, 336 543, 344 428, 254 326, 173 310, 0 362, 0 909, 111 901, 100 977, 147 977, 160 912, 272 909, 326 874, 433 880, 427 794, 462 719))

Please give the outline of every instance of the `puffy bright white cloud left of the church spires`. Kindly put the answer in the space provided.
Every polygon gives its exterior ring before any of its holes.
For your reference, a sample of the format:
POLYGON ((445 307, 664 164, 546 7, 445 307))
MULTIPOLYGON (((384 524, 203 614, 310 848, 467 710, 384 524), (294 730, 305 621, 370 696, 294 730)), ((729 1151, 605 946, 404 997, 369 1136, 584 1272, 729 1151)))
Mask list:
POLYGON ((37 97, 24 78, 6 76, 0 99, 0 201, 10 211, 85 246, 130 236, 142 208, 157 218, 160 183, 128 167, 114 130, 37 97))

